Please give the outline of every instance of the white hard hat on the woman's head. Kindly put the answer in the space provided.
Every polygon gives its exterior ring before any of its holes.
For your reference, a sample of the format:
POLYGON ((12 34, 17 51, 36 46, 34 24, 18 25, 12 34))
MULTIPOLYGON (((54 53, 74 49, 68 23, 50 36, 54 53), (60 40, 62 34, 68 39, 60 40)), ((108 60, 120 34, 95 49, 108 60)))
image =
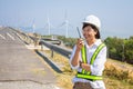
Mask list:
POLYGON ((93 16, 93 14, 88 16, 88 17, 84 19, 83 23, 93 24, 93 26, 95 26, 98 29, 101 28, 101 21, 100 21, 100 19, 99 19, 98 17, 93 16))

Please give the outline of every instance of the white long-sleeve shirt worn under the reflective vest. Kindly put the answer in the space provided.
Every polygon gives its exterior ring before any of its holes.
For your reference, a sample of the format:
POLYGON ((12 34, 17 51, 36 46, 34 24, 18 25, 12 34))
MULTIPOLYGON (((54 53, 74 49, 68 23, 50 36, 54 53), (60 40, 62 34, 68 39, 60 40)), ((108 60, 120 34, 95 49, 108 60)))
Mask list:
MULTIPOLYGON (((91 47, 89 47, 88 43, 85 42, 85 44, 86 44, 86 60, 88 60, 89 65, 90 65, 90 61, 91 61, 91 57, 93 56, 94 51, 96 50, 96 48, 101 43, 102 43, 102 41, 100 39, 98 39, 94 42, 94 44, 91 46, 91 47)), ((72 55, 70 57, 70 66, 71 66, 72 69, 75 69, 79 72, 81 72, 82 69, 79 66, 73 67, 71 65, 71 61, 72 61, 72 59, 74 57, 74 53, 75 53, 75 50, 76 50, 76 46, 74 46, 72 55)), ((81 52, 80 52, 80 61, 82 61, 81 52)), ((90 66, 91 67, 91 75, 93 75, 93 76, 102 76, 102 72, 104 70, 105 61, 106 61, 106 47, 102 48, 102 50, 99 52, 98 57, 95 58, 93 65, 90 66)), ((73 82, 78 82, 78 81, 80 81, 80 82, 90 82, 91 86, 94 89, 105 89, 104 82, 102 80, 90 81, 90 80, 86 80, 86 79, 74 77, 73 82)))

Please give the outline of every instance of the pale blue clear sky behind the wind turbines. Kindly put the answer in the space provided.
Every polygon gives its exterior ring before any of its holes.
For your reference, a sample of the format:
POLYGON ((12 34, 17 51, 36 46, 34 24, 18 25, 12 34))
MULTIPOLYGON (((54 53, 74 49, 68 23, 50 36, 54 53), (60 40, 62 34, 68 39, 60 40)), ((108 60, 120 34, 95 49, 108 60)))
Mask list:
POLYGON ((32 27, 34 31, 48 33, 48 18, 51 33, 78 37, 76 27, 83 19, 94 14, 101 20, 101 37, 129 38, 133 36, 133 0, 0 0, 0 26, 32 27))

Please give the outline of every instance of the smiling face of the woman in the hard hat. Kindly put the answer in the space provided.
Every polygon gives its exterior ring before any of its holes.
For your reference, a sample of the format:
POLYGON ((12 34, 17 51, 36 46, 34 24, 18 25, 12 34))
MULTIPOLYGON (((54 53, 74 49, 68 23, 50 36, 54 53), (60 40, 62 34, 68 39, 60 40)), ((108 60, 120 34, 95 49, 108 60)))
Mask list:
POLYGON ((82 32, 86 41, 94 39, 96 34, 96 32, 94 31, 94 29, 91 28, 91 26, 86 26, 85 28, 83 28, 82 32))

